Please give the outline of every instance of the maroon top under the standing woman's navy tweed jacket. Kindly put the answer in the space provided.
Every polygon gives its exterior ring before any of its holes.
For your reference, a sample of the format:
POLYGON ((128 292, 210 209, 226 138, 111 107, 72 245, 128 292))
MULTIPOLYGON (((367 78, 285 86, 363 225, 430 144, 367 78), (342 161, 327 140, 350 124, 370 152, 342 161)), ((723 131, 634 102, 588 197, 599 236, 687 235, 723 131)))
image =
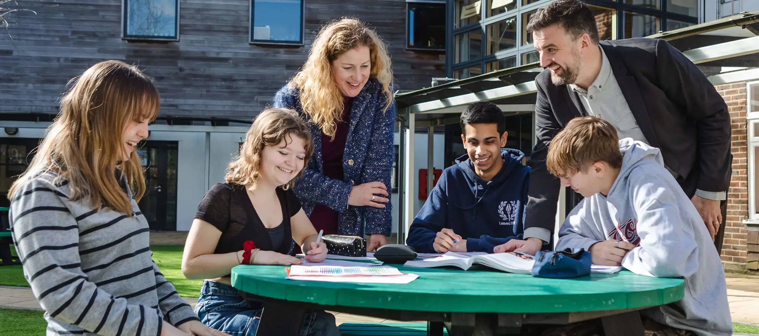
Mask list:
MULTIPOLYGON (((348 141, 348 125, 351 122, 351 106, 353 100, 351 97, 343 98, 342 121, 337 122, 335 130, 335 140, 322 132, 322 166, 323 174, 334 180, 342 181, 342 154, 345 152, 345 142, 348 141)), ((324 190, 328 193, 329 190, 324 190)), ((338 212, 329 209, 327 206, 317 204, 313 208, 310 216, 313 228, 324 230, 324 234, 338 234, 337 221, 338 212)))

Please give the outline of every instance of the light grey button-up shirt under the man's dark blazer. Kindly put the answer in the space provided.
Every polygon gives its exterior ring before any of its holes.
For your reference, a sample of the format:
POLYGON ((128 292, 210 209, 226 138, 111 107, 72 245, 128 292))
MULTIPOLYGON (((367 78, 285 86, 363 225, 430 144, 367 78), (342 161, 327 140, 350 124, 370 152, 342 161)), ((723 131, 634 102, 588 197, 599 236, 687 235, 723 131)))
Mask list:
MULTIPOLYGON (((638 126, 638 121, 635 121, 635 115, 632 114, 630 106, 622 94, 622 89, 619 88, 619 83, 617 83, 616 77, 612 73, 611 64, 609 64, 609 58, 606 57, 606 52, 603 52, 603 48, 600 46, 598 48, 601 50, 602 59, 601 70, 598 72, 596 80, 587 89, 583 89, 576 84, 569 84, 569 88, 578 93, 581 98, 580 101, 588 115, 594 115, 609 121, 616 128, 619 139, 629 137, 650 145, 643 131, 641 131, 641 127, 638 126)), ((675 178, 680 176, 666 165, 665 168, 675 178)), ((723 200, 727 197, 724 191, 696 190, 696 195, 705 199, 716 200, 723 200)))

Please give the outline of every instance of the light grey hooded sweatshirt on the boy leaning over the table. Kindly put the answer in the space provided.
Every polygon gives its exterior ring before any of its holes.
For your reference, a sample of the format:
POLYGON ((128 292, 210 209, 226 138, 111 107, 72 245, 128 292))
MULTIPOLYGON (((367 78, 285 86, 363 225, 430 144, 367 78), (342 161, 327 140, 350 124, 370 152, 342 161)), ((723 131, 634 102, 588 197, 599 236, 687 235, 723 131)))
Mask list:
POLYGON ((705 336, 729 336, 732 321, 720 254, 698 211, 664 168, 660 150, 619 140, 624 159, 609 190, 585 198, 559 230, 556 250, 615 239, 635 247, 622 266, 638 275, 684 278, 685 297, 641 314, 705 336))

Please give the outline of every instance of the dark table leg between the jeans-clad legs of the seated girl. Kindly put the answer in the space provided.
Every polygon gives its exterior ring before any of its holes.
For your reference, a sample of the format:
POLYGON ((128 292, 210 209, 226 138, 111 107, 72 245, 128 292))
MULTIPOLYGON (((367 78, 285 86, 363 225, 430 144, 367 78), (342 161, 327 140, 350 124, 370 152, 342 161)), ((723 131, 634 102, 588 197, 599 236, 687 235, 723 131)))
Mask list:
POLYGON ((298 336, 306 309, 282 302, 264 302, 256 336, 298 336))

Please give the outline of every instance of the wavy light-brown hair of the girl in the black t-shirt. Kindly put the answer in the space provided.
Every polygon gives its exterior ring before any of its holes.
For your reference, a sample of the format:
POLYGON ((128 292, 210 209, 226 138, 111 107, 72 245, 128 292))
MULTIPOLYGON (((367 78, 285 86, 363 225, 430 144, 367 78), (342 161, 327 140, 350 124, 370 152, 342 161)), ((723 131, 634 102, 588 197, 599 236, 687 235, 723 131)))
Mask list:
MULTIPOLYGON (((296 176, 301 177, 308 166, 308 160, 313 155, 313 141, 311 141, 308 125, 293 110, 268 108, 256 116, 250 129, 247 130, 240 155, 229 164, 225 181, 243 186, 256 184, 261 177, 263 147, 279 145, 282 140, 288 141, 288 136, 300 137, 306 143, 303 169, 296 176)), ((293 184, 294 179, 286 185, 292 187, 293 184)))

